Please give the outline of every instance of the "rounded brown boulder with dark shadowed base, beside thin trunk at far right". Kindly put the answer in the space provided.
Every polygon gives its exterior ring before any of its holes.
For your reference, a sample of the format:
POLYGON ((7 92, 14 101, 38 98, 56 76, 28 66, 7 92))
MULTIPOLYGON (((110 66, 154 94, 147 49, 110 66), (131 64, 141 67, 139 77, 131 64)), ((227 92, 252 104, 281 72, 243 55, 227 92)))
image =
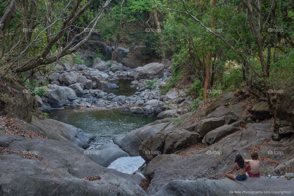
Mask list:
POLYGON ((251 106, 248 111, 251 113, 252 120, 270 119, 272 115, 269 113, 267 102, 261 101, 251 106))

